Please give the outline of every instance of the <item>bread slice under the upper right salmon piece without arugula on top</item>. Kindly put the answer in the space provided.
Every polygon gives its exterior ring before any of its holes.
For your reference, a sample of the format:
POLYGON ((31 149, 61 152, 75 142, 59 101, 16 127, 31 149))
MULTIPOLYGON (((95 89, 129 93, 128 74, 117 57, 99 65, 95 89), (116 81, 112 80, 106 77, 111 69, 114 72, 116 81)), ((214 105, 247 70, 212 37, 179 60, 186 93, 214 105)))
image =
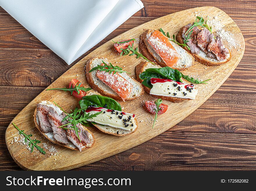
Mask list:
MULTIPOLYGON (((167 66, 165 64, 165 62, 162 60, 162 58, 156 53, 156 51, 154 51, 154 49, 152 48, 152 46, 147 42, 147 39, 152 35, 152 33, 154 32, 154 30, 147 30, 145 31, 142 35, 141 35, 141 41, 144 42, 146 49, 142 46, 143 43, 140 42, 139 43, 139 48, 141 53, 147 57, 148 59, 150 58, 149 55, 153 56, 154 59, 157 61, 157 63, 161 66, 161 67, 165 67, 167 66), (141 46, 140 46, 141 44, 141 46)), ((180 47, 179 45, 177 45, 176 43, 170 41, 170 43, 173 45, 173 47, 175 48, 175 50, 177 51, 177 53, 180 55, 180 59, 178 60, 177 64, 172 67, 173 69, 178 69, 178 70, 184 70, 188 67, 191 67, 194 63, 194 58, 191 54, 189 54, 187 51, 184 51, 184 49, 182 47, 180 47)), ((151 61, 151 60, 150 60, 151 61)))

